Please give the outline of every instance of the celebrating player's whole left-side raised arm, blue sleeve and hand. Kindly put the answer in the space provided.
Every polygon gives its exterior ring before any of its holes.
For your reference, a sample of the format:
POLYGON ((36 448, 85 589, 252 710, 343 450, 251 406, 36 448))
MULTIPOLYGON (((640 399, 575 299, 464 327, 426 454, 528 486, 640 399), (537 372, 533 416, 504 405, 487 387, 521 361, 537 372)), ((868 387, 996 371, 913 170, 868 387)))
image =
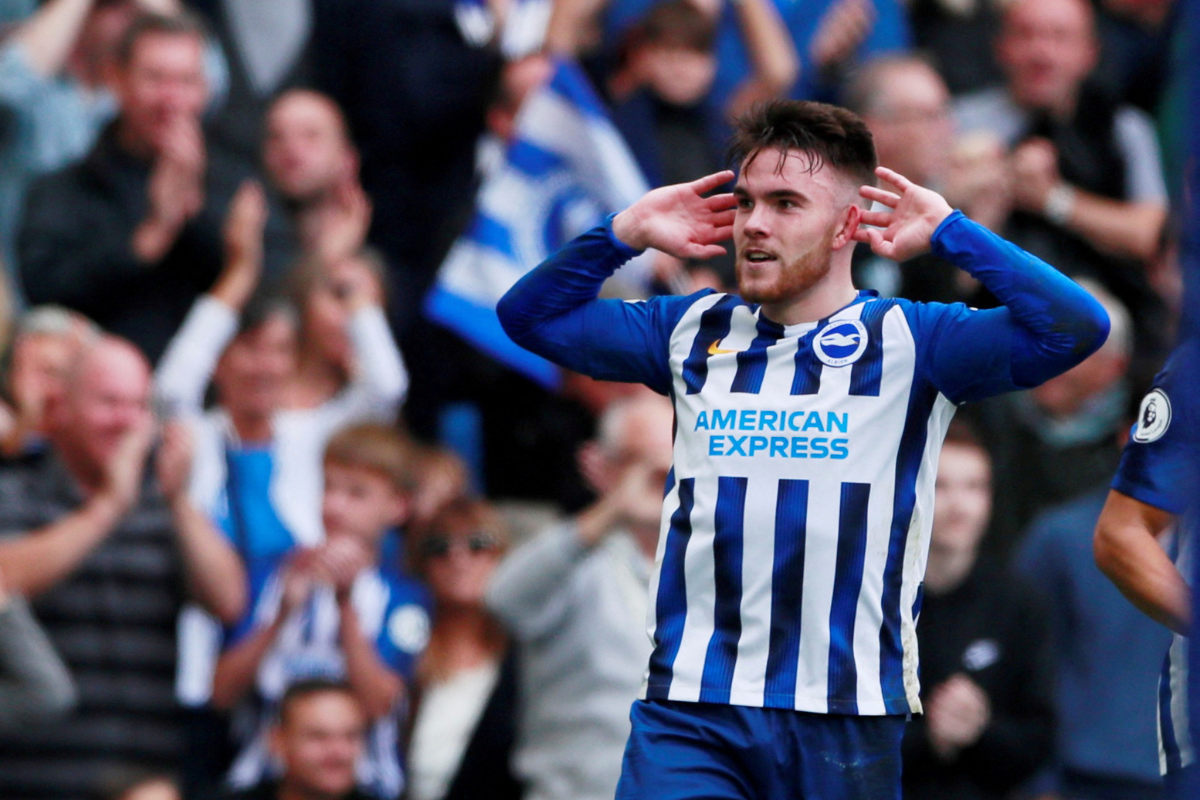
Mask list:
POLYGON ((601 380, 671 387, 667 342, 691 297, 598 300, 600 287, 637 252, 712 258, 733 229, 733 198, 703 197, 732 180, 724 172, 646 194, 610 223, 569 242, 509 290, 496 311, 514 342, 601 380))

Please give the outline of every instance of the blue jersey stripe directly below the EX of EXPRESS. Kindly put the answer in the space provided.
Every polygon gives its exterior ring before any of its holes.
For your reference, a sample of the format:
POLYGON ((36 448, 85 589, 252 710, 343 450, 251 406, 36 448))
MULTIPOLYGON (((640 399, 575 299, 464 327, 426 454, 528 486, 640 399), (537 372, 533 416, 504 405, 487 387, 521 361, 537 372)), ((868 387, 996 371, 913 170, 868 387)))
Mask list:
POLYGON ((745 518, 746 479, 720 477, 716 482, 715 536, 713 537, 713 636, 704 654, 700 681, 701 703, 728 703, 733 664, 742 638, 742 524, 745 518))

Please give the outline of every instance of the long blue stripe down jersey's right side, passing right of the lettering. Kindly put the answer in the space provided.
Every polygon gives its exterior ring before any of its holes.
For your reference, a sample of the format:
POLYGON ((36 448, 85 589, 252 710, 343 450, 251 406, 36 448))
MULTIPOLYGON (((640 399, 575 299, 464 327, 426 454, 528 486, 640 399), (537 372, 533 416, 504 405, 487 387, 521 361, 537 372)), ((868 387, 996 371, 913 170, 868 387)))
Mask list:
POLYGON ((928 381, 914 379, 908 395, 907 417, 896 453, 895 499, 892 504, 892 533, 888 560, 883 566, 883 593, 880 600, 883 626, 880 628, 880 684, 888 714, 908 714, 908 696, 904 687, 904 643, 900 638, 900 589, 904 585, 905 549, 908 525, 917 505, 917 471, 925 457, 929 414, 937 390, 928 381))

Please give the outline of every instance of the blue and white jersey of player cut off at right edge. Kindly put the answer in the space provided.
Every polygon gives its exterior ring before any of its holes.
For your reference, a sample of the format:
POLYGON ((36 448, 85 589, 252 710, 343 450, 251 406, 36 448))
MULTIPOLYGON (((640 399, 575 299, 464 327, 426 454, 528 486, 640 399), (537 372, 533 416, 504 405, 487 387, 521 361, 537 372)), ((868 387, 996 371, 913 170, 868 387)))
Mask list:
MULTIPOLYGON (((1186 369, 1198 366, 1194 347, 1176 350, 1141 401, 1138 421, 1121 455, 1112 488, 1140 503, 1181 517, 1169 549, 1184 581, 1192 579, 1195 547, 1195 510, 1189 486, 1195 473, 1192 458, 1195 423, 1183 386, 1186 369)), ((1176 633, 1158 681, 1158 760, 1163 774, 1195 762, 1195 744, 1188 722, 1188 638, 1176 633)))

